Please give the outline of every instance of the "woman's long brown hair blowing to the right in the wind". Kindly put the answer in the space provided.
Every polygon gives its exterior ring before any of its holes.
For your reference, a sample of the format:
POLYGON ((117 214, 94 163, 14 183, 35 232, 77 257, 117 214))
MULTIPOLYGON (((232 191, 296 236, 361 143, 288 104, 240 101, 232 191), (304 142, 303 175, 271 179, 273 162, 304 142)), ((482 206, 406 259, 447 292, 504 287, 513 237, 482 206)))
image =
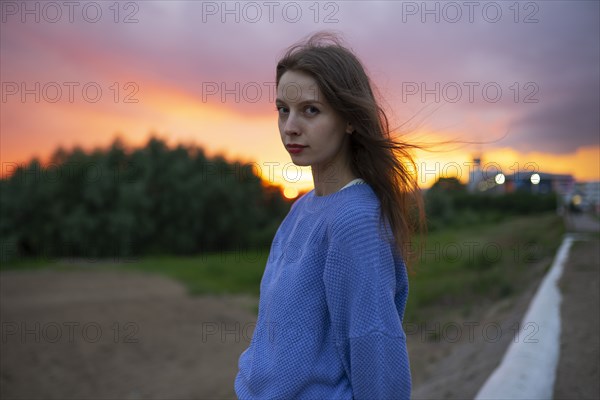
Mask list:
POLYGON ((335 33, 321 31, 292 45, 277 63, 276 84, 286 71, 309 74, 331 107, 352 123, 352 172, 381 203, 396 248, 411 256, 410 240, 425 231, 425 212, 412 151, 420 146, 393 138, 388 117, 374 96, 359 59, 335 33))

